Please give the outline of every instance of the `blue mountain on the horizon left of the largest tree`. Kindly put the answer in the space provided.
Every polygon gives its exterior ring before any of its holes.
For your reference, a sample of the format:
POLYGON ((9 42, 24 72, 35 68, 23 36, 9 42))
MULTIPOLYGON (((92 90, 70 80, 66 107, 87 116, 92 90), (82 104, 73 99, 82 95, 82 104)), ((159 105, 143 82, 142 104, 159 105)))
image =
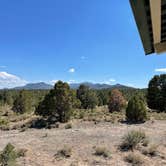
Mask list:
POLYGON ((25 86, 21 86, 21 87, 16 87, 14 89, 25 89, 25 90, 39 90, 39 89, 52 89, 53 86, 50 84, 46 84, 44 82, 39 82, 39 83, 30 83, 27 84, 25 86))

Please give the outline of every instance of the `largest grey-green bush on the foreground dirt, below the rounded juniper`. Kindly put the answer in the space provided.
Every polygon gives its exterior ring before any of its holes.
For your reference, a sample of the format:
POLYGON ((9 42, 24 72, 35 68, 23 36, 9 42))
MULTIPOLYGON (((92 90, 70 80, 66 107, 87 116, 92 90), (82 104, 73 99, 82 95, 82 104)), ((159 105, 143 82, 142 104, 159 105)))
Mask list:
POLYGON ((120 145, 121 150, 134 150, 138 144, 148 144, 148 138, 143 131, 132 130, 128 132, 124 137, 120 145))

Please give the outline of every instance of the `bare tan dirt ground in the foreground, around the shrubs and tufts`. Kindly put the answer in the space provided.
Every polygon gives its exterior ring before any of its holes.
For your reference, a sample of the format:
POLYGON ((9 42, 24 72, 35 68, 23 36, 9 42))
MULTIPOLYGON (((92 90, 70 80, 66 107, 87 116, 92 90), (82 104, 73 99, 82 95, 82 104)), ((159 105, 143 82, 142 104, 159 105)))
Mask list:
POLYGON ((110 122, 73 121, 71 129, 60 125, 56 129, 28 129, 0 131, 0 150, 7 143, 16 148, 27 149, 25 157, 18 159, 21 166, 125 166, 130 165, 124 161, 129 152, 118 149, 122 137, 128 131, 143 130, 151 143, 158 145, 159 156, 144 158, 143 165, 166 165, 166 121, 148 121, 144 124, 127 125, 110 122), (64 146, 72 149, 70 158, 55 158, 58 150, 64 146), (94 155, 95 147, 106 147, 111 157, 104 158, 94 155), (162 156, 162 157, 161 157, 162 156))

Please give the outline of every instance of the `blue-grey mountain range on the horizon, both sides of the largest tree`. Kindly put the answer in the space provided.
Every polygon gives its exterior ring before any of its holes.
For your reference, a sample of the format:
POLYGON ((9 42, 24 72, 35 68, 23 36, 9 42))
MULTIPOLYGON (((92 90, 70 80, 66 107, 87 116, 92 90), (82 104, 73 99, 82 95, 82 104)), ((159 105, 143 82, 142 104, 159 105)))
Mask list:
MULTIPOLYGON (((121 84, 115 84, 115 85, 109 85, 109 84, 100 84, 100 83, 91 83, 91 82, 83 82, 83 83, 72 83, 70 84, 70 87, 72 89, 78 89, 78 87, 84 84, 86 86, 89 86, 91 89, 113 89, 113 88, 118 88, 118 89, 126 89, 126 88, 133 88, 133 87, 128 87, 125 85, 121 84)), ((39 82, 39 83, 30 83, 22 87, 16 87, 14 89, 26 89, 26 90, 37 90, 37 89, 44 89, 44 90, 49 90, 52 89, 53 85, 46 84, 44 82, 39 82)), ((134 89, 134 88, 133 88, 134 89)))

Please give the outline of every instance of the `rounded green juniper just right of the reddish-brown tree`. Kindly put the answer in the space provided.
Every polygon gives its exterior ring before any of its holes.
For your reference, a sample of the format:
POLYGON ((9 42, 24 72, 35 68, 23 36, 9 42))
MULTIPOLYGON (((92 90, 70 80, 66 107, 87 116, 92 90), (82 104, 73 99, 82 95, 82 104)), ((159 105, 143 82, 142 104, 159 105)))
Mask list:
POLYGON ((139 96, 130 99, 126 109, 126 119, 130 122, 144 122, 147 119, 147 109, 139 96))

